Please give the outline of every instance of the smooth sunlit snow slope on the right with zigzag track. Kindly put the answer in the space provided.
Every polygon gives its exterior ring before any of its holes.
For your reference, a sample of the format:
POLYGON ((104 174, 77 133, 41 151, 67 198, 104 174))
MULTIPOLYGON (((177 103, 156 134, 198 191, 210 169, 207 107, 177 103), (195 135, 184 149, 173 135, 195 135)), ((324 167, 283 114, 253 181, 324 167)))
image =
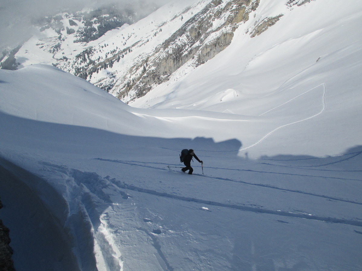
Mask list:
POLYGON ((258 133, 254 126, 238 135, 249 155, 275 155, 275 145, 279 153, 336 155, 361 144, 361 16, 357 1, 318 0, 292 8, 284 1, 261 1, 250 15, 254 19, 239 25, 224 51, 187 76, 185 64, 169 82, 130 105, 225 112, 260 121, 272 117, 257 139, 249 137, 258 133), (261 35, 246 33, 262 18, 278 14, 284 16, 261 35), (274 119, 278 116, 283 120, 274 119))

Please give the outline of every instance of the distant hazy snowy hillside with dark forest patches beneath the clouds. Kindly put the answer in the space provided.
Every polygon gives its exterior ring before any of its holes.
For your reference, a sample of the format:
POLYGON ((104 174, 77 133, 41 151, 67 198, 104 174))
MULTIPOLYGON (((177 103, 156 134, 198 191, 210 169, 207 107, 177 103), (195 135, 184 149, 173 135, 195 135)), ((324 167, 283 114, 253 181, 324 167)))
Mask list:
MULTIPOLYGON (((118 2, 113 4, 104 1, 104 4, 99 7, 97 7, 96 3, 96 1, 89 3, 93 8, 85 8, 80 11, 72 11, 75 9, 73 7, 53 16, 43 18, 33 16, 31 21, 36 38, 33 37, 35 39, 30 39, 28 44, 30 42, 31 45, 49 53, 50 55, 45 54, 47 55, 45 57, 47 61, 53 61, 54 63, 66 61, 67 57, 64 56, 64 52, 60 59, 55 60, 54 56, 56 53, 59 53, 59 51, 63 51, 64 47, 69 47, 69 42, 75 44, 81 43, 81 45, 84 46, 84 44, 90 41, 97 40, 109 30, 117 29, 125 24, 130 25, 146 17, 159 7, 153 1, 135 1, 134 3, 118 2), (141 3, 142 9, 138 7, 141 3), (33 42, 34 44, 32 44, 33 42)), ((37 5, 38 3, 34 4, 37 5)), ((13 24, 16 24, 16 20, 14 20, 13 24)), ((33 33, 29 26, 26 27, 29 28, 28 31, 30 33, 33 33)), ((11 28, 11 24, 9 28, 11 28)), ((30 33, 28 34, 28 39, 31 37, 30 33)), ((16 33, 14 33, 14 35, 16 35, 16 33)), ((26 42, 26 36, 24 36, 23 39, 25 39, 23 43, 26 42)), ((1 46, 4 47, 4 44, 1 44, 1 46)), ((0 67, 8 70, 21 68, 23 61, 29 57, 29 55, 26 55, 25 59, 19 55, 15 57, 22 46, 24 46, 24 44, 20 44, 16 48, 6 46, 0 55, 0 67)), ((75 46, 71 52, 75 52, 79 48, 84 49, 82 46, 75 46)), ((26 51, 26 53, 28 53, 28 51, 26 51)), ((43 52, 41 52, 40 55, 39 52, 34 53, 35 55, 31 56, 33 58, 32 61, 35 61, 35 63, 42 61, 41 55, 43 52)))

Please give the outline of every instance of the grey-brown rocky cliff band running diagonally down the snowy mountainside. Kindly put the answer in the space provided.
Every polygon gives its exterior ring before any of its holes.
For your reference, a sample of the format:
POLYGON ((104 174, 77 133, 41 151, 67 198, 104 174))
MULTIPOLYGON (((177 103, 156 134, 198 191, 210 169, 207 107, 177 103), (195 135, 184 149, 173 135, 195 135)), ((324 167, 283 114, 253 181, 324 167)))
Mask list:
POLYGON ((129 102, 167 81, 185 63, 197 67, 210 60, 231 43, 238 23, 247 21, 258 4, 259 0, 214 0, 207 4, 144 61, 119 78, 113 94, 129 102))

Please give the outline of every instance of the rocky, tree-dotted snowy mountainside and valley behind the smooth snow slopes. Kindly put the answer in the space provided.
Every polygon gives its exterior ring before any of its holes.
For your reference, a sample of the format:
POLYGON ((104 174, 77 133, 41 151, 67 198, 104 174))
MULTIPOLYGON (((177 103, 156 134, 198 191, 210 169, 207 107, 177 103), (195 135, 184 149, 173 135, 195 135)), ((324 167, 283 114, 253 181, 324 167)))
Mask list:
MULTIPOLYGON (((130 11, 63 13, 39 22, 39 36, 33 36, 7 61, 19 67, 53 64, 130 102, 173 74, 179 78, 212 59, 230 45, 237 29, 247 34, 244 43, 253 43, 249 38, 282 16, 294 16, 294 7, 309 2, 282 1, 270 8, 266 2, 259 7, 259 0, 179 1, 131 25, 123 25, 135 20, 136 14, 130 11)), ((290 35, 298 36, 294 31, 290 35)), ((265 42, 257 43, 255 51, 248 50, 248 57, 265 46, 265 42)))

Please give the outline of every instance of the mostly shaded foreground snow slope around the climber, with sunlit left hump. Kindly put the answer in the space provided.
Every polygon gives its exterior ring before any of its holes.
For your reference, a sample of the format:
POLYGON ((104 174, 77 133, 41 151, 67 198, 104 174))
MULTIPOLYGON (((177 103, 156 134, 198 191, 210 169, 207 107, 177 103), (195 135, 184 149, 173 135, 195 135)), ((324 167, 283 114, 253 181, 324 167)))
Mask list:
MULTIPOLYGON (((51 66, 0 72, 0 214, 17 270, 361 268, 360 147, 241 158, 237 139, 176 138, 163 109, 139 113, 51 66), (205 175, 177 172, 185 146, 205 175)), ((218 121, 208 129, 223 134, 218 121)))

